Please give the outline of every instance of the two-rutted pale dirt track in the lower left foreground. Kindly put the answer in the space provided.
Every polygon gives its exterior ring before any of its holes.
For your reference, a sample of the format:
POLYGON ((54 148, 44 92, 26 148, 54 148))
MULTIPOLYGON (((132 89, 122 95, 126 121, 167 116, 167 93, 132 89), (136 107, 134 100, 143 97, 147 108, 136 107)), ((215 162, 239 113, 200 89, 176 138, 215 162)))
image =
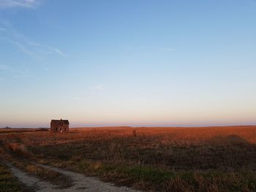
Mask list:
POLYGON ((75 172, 69 172, 63 169, 55 168, 52 166, 45 166, 39 164, 39 166, 44 167, 45 169, 51 169, 61 174, 65 174, 73 180, 73 184, 69 188, 59 189, 56 185, 52 185, 46 181, 39 180, 37 177, 31 176, 25 172, 20 171, 19 169, 12 166, 12 164, 7 164, 10 166, 13 174, 15 177, 20 180, 23 184, 25 184, 29 188, 33 188, 33 191, 38 192, 75 192, 75 191, 97 191, 97 192, 106 192, 106 191, 113 191, 113 192, 136 192, 135 190, 127 187, 117 187, 113 185, 113 183, 104 183, 98 180, 96 177, 86 177, 83 174, 78 174, 75 172))

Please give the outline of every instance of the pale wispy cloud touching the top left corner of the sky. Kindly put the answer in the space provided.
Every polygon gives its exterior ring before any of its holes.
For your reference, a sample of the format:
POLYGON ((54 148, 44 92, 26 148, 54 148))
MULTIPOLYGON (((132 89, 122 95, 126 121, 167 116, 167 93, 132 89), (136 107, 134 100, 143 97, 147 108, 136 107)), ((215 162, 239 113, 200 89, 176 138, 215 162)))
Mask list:
POLYGON ((0 0, 0 8, 35 8, 38 5, 38 0, 0 0))

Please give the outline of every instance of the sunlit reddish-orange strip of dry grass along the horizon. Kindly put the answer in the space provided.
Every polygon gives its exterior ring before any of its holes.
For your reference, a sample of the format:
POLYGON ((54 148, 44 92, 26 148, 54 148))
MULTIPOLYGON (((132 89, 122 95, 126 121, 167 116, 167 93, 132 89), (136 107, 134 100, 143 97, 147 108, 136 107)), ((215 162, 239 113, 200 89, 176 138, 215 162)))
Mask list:
POLYGON ((15 129, 4 129, 1 140, 22 140, 26 145, 51 145, 63 142, 72 142, 83 139, 109 139, 111 137, 133 136, 161 136, 163 139, 172 139, 173 142, 206 142, 217 137, 236 135, 249 143, 256 143, 256 126, 219 126, 219 127, 102 127, 102 128, 70 128, 68 134, 50 134, 49 131, 22 132, 15 129), (10 130, 7 131, 6 130, 10 130), (17 134, 18 133, 18 134, 17 134))

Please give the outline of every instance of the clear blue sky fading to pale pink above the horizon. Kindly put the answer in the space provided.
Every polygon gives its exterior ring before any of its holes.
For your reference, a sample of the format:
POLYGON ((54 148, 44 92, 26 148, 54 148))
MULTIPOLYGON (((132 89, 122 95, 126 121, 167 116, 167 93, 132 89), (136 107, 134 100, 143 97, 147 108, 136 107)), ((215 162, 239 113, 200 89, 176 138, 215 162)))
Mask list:
POLYGON ((256 124, 255 0, 0 0, 0 127, 256 124))

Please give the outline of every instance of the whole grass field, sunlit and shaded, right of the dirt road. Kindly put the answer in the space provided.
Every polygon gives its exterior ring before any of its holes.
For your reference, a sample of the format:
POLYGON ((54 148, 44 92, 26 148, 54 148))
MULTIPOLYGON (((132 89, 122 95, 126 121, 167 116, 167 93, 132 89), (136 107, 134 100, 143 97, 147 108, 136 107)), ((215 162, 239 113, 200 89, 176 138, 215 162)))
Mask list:
POLYGON ((2 129, 0 140, 16 163, 37 161, 145 191, 256 191, 256 126, 2 129))

